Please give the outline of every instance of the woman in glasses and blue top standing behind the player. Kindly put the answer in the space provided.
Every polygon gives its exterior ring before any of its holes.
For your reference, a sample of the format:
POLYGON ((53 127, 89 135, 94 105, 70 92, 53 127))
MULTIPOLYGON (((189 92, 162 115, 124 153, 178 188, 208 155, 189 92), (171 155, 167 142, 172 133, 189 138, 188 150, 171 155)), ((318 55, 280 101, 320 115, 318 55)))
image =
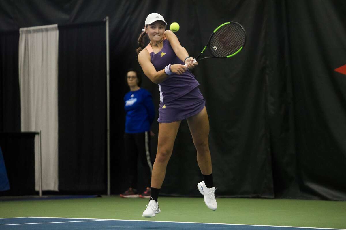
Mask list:
POLYGON ((140 88, 142 78, 135 70, 129 70, 126 74, 126 81, 130 91, 124 96, 126 122, 125 122, 125 151, 128 159, 129 184, 130 188, 121 197, 149 198, 151 196, 151 172, 152 162, 150 157, 150 126, 155 117, 155 108, 151 94, 140 88), (146 190, 142 194, 137 192, 137 158, 143 165, 142 172, 145 178, 146 190))

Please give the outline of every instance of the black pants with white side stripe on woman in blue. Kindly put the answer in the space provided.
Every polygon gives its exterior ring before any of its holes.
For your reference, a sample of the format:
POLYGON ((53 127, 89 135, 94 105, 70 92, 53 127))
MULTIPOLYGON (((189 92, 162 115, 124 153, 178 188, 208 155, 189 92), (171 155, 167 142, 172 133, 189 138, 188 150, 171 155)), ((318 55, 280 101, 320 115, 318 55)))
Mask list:
POLYGON ((125 152, 127 156, 128 176, 130 188, 137 188, 137 158, 142 164, 141 174, 144 178, 144 185, 151 187, 150 179, 153 164, 150 157, 150 135, 149 132, 125 133, 125 152))

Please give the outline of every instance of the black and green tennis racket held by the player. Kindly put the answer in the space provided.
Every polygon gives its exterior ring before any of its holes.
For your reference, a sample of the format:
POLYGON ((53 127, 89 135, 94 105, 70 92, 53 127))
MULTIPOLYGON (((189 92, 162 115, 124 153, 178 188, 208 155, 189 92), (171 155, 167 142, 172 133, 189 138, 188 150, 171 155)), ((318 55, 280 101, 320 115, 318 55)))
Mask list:
MULTIPOLYGON (((226 22, 216 28, 211 34, 207 45, 193 60, 193 63, 207 58, 230 58, 239 53, 245 46, 246 32, 238 22, 226 22), (203 52, 209 47, 212 56, 201 58, 203 52)), ((187 66, 185 64, 184 66, 187 66)))

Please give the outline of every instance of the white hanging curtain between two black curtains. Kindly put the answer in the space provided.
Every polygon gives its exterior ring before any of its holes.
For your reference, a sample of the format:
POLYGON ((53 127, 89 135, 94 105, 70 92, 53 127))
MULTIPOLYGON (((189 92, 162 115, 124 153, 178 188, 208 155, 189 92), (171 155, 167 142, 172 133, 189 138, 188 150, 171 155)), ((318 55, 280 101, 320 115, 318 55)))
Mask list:
MULTIPOLYGON (((42 190, 58 190, 57 24, 19 30, 21 131, 42 136, 42 190)), ((35 188, 39 189, 39 144, 35 138, 35 188)))

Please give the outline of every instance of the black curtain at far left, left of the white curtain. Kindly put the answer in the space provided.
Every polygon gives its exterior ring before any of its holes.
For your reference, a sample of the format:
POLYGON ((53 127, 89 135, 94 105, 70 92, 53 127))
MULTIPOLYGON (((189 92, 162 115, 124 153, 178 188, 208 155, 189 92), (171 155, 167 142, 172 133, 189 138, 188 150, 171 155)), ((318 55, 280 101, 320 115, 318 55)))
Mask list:
POLYGON ((19 31, 0 32, 0 132, 20 131, 19 31))

